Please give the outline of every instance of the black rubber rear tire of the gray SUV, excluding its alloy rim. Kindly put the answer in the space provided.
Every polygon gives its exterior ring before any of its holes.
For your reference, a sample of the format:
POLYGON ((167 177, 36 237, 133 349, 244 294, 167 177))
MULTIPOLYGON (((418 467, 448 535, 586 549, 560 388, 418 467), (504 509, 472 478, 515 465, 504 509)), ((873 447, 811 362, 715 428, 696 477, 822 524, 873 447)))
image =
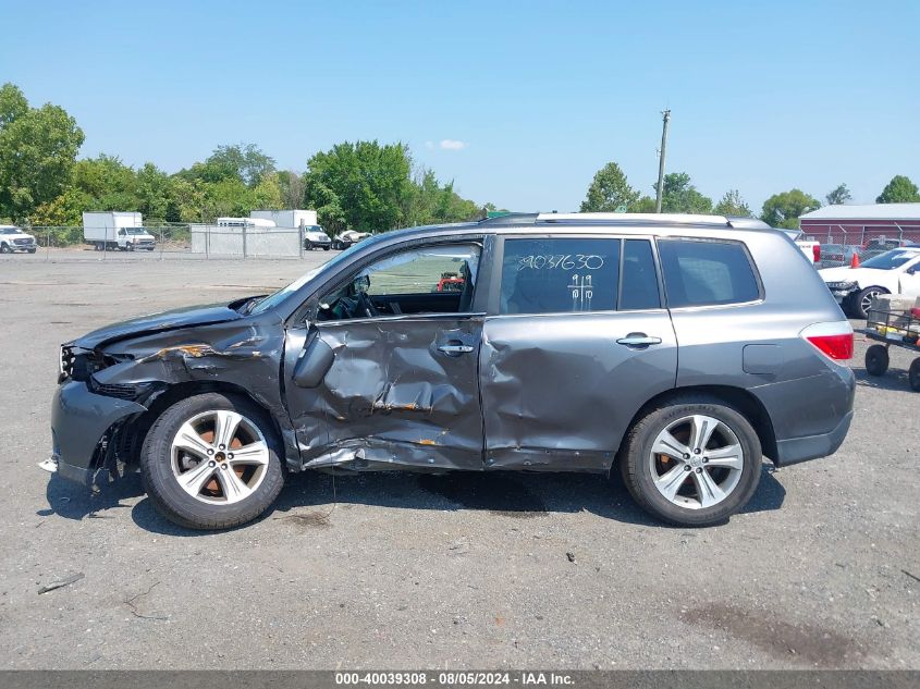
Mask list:
MULTIPOLYGON (((668 524, 704 527, 724 522, 753 495, 760 481, 761 446, 750 422, 731 405, 714 397, 680 397, 652 408, 633 426, 618 462, 623 481, 642 509, 668 524), (671 425, 692 415, 712 417, 724 423, 735 434, 743 451, 743 467, 737 483, 727 496, 710 507, 691 508, 674 504, 659 492, 652 478, 649 457, 655 438, 671 425)), ((694 471, 699 472, 689 469, 688 477, 692 478, 694 471)))

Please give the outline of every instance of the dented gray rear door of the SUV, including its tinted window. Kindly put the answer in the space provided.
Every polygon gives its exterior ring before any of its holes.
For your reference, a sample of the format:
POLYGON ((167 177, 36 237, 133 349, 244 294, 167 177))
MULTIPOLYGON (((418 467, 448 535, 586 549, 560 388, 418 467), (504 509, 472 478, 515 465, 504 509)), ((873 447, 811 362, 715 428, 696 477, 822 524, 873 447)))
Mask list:
POLYGON ((674 387, 677 341, 651 237, 506 237, 480 353, 487 469, 608 468, 674 387))

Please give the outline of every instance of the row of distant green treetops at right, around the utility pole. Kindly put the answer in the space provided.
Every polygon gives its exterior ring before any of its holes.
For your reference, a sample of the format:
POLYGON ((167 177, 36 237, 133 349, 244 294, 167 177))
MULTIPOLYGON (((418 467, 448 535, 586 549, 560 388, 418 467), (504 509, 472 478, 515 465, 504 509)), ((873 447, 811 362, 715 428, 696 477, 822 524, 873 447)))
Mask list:
MULTIPOLYGON (((652 188, 657 189, 653 184, 652 188)), ((852 200, 846 184, 829 192, 824 200, 829 205, 846 204, 852 200)), ((895 175, 876 204, 908 204, 920 201, 917 185, 904 175, 895 175)), ((774 194, 763 202, 759 218, 774 227, 797 229, 799 218, 821 208, 821 201, 801 189, 789 189, 774 194)), ((653 213, 655 199, 642 195, 629 185, 626 174, 615 162, 609 162, 598 170, 581 201, 581 212, 630 212, 653 213)), ((671 172, 664 175, 661 210, 665 213, 714 213, 716 216, 753 217, 750 207, 738 189, 728 189, 715 204, 694 186, 686 172, 671 172)))

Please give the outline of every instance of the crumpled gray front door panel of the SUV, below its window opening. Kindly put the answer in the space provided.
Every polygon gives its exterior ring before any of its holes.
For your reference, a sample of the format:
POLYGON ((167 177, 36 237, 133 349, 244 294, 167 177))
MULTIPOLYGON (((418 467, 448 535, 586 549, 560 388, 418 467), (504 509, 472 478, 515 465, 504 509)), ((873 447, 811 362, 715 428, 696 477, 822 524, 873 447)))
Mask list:
POLYGON ((481 317, 457 315, 289 331, 286 398, 305 465, 481 469, 481 317))

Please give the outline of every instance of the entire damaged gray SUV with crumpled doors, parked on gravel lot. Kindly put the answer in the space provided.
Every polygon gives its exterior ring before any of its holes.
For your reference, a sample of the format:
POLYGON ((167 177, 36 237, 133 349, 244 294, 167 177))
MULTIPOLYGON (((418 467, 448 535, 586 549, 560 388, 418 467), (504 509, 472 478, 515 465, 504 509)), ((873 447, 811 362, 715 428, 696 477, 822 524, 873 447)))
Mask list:
POLYGON ((185 527, 255 519, 287 472, 620 475, 678 525, 748 502, 761 457, 834 453, 852 330, 782 232, 529 214, 390 232, 270 296, 61 347, 64 478, 139 467, 185 527))

